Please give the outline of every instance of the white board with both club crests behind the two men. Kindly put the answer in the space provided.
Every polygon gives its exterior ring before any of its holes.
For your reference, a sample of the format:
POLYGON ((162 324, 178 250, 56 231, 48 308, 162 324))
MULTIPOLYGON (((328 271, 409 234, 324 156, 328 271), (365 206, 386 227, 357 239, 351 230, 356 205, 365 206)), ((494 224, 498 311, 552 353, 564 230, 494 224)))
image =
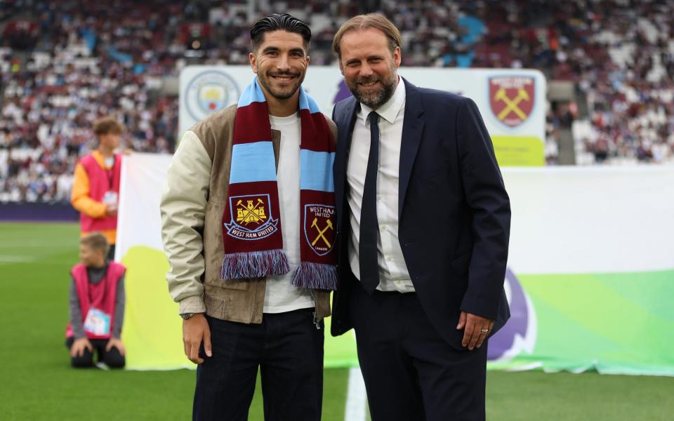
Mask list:
MULTIPOLYGON (((494 142, 501 166, 542 166, 546 78, 534 69, 400 67, 410 83, 471 98, 494 142)), ((255 75, 250 66, 187 66, 180 72, 179 134, 236 104, 255 75)), ((351 93, 336 66, 308 67, 303 87, 324 114, 351 93)))

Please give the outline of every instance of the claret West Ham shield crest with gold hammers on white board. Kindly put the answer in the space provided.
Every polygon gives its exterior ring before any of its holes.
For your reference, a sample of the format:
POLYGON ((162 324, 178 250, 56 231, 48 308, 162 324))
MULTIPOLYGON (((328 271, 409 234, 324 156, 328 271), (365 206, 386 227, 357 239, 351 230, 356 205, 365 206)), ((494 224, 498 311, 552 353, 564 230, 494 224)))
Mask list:
POLYGON ((496 119, 508 127, 529 119, 536 100, 536 79, 531 76, 489 78, 489 107, 496 119))

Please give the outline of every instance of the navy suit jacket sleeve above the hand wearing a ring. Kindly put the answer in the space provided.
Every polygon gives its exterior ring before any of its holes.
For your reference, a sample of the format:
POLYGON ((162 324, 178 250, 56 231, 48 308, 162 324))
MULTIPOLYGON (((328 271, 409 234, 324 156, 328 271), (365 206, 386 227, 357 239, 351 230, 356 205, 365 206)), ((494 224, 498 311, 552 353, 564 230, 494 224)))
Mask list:
POLYGON ((491 138, 473 100, 465 98, 459 105, 456 131, 461 180, 473 213, 475 239, 461 310, 496 319, 508 261, 510 199, 491 138))

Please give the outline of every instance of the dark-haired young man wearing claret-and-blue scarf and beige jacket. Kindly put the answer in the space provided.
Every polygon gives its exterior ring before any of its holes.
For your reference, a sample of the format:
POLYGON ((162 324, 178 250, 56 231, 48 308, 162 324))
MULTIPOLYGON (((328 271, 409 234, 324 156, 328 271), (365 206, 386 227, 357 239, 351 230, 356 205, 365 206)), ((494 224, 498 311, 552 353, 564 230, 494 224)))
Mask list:
POLYGON ((196 420, 246 420, 258 367, 265 419, 321 417, 336 126, 301 87, 310 37, 290 15, 256 22, 256 77, 185 133, 169 167, 162 236, 199 364, 196 420))

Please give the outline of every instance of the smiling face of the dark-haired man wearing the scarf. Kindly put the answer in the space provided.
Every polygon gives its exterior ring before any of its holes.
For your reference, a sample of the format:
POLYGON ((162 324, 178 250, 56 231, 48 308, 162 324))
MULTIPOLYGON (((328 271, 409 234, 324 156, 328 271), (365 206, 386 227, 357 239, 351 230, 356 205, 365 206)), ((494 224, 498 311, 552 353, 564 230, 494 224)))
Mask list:
POLYGON ((309 56, 300 34, 283 30, 267 32, 256 51, 250 53, 249 59, 267 101, 272 98, 297 100, 298 88, 309 65, 309 56))

